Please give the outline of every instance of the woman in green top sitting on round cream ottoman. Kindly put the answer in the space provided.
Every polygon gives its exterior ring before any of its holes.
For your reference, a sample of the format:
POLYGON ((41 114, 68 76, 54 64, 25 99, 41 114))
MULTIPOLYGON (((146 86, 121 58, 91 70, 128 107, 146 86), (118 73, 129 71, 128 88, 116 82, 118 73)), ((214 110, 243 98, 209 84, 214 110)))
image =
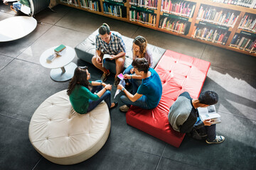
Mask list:
POLYGON ((115 108, 117 102, 111 103, 110 84, 101 81, 88 81, 90 73, 87 67, 77 67, 74 76, 68 86, 67 94, 74 110, 77 113, 85 114, 92 111, 101 102, 105 101, 107 107, 115 108), (97 94, 94 94, 97 92, 97 94))

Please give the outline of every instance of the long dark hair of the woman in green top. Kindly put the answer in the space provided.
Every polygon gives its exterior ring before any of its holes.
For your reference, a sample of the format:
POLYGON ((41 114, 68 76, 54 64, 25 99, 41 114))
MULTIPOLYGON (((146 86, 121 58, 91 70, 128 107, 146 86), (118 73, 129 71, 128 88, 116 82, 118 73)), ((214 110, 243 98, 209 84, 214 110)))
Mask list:
POLYGON ((87 72, 86 72, 87 68, 88 67, 86 66, 75 68, 74 76, 70 80, 70 83, 68 85, 68 90, 67 90, 68 96, 70 96, 70 94, 72 93, 73 89, 75 89, 75 86, 77 84, 80 84, 81 86, 85 86, 87 89, 90 89, 90 84, 89 84, 89 81, 87 80, 87 72))

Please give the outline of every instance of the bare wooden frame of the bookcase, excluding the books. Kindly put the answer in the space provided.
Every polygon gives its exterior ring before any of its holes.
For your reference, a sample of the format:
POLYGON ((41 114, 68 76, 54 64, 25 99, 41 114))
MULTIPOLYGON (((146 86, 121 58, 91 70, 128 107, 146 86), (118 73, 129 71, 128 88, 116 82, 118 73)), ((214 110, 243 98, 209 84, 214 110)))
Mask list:
MULTIPOLYGON (((125 21, 127 23, 133 23, 133 24, 136 24, 138 26, 151 28, 153 30, 159 30, 159 31, 164 32, 164 33, 177 35, 177 36, 180 36, 180 37, 183 37, 183 38, 196 40, 198 42, 203 42, 203 43, 206 43, 206 44, 209 44, 209 45, 215 45, 216 47, 222 47, 222 48, 225 48, 225 49, 228 49, 228 50, 233 50, 235 52, 241 52, 243 54, 252 55, 252 56, 256 57, 256 53, 250 53, 250 52, 245 51, 245 50, 240 50, 238 47, 231 47, 230 46, 230 42, 232 42, 233 37, 236 34, 240 34, 241 31, 256 34, 256 33, 253 33, 250 30, 245 30, 245 29, 238 28, 239 25, 240 25, 240 22, 242 21, 242 18, 245 16, 245 13, 256 14, 256 9, 254 9, 254 8, 236 6, 236 5, 233 5, 233 4, 222 4, 222 3, 213 2, 213 1, 210 1, 210 0, 188 0, 189 3, 194 3, 195 4, 195 8, 194 8, 194 11, 193 11, 193 16, 191 18, 187 17, 187 16, 178 15, 177 13, 176 14, 169 13, 170 18, 182 17, 181 20, 183 19, 183 20, 186 20, 186 22, 190 23, 188 25, 188 26, 190 26, 189 30, 188 30, 188 33, 186 35, 183 35, 183 34, 180 34, 180 33, 176 33, 172 30, 159 28, 159 23, 160 23, 161 17, 168 16, 168 13, 166 11, 161 11, 161 1, 164 1, 164 0, 158 0, 156 9, 154 9, 154 8, 144 8, 142 6, 136 6, 134 4, 129 4, 129 0, 127 0, 126 2, 113 3, 113 4, 117 4, 117 5, 118 4, 123 4, 122 6, 124 6, 124 8, 126 8, 126 10, 127 10, 126 11, 126 17, 119 17, 119 16, 114 16, 112 14, 104 13, 103 2, 105 2, 105 3, 108 3, 108 2, 112 3, 112 2, 111 2, 111 0, 98 0, 98 1, 99 1, 100 11, 93 11, 93 10, 90 10, 89 8, 83 8, 80 4, 80 0, 77 0, 77 5, 67 4, 63 1, 60 1, 60 4, 63 4, 65 6, 71 6, 73 8, 78 8, 78 9, 81 9, 81 10, 84 10, 84 11, 89 11, 89 12, 96 13, 96 14, 101 15, 101 16, 107 16, 107 17, 114 18, 114 19, 117 19, 117 20, 120 20, 120 21, 125 21), (225 40, 226 40, 225 45, 222 45, 220 43, 211 42, 211 41, 208 41, 208 40, 202 40, 203 38, 194 38, 193 37, 193 29, 194 29, 195 26, 198 26, 198 24, 202 24, 202 23, 205 24, 206 23, 206 25, 210 26, 210 27, 215 24, 215 23, 207 23, 207 21, 201 21, 200 19, 198 19, 198 11, 200 10, 201 5, 209 6, 209 7, 212 6, 213 8, 223 8, 223 10, 232 10, 232 11, 235 11, 235 12, 239 13, 238 19, 235 22, 235 24, 233 25, 233 27, 232 26, 230 26, 230 27, 226 26, 226 27, 228 27, 227 28, 228 38, 225 38, 225 40), (129 11, 130 11, 130 8, 134 8, 134 7, 142 8, 142 10, 145 11, 145 12, 150 11, 151 13, 154 13, 156 15, 156 25, 151 26, 150 24, 142 23, 142 22, 139 22, 139 21, 130 21, 129 11)), ((216 28, 220 27, 220 26, 218 26, 218 24, 215 24, 215 25, 216 26, 213 26, 213 27, 216 27, 216 28)), ((223 28, 225 28, 225 26, 223 26, 223 28)))

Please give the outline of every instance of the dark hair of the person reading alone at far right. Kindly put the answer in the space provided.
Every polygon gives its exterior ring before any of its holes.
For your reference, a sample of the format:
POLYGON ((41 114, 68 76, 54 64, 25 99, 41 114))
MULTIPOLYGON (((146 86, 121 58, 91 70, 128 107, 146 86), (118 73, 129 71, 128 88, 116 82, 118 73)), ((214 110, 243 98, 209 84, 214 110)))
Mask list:
POLYGON ((214 105, 218 103, 218 94, 215 91, 204 91, 198 98, 201 104, 214 105))

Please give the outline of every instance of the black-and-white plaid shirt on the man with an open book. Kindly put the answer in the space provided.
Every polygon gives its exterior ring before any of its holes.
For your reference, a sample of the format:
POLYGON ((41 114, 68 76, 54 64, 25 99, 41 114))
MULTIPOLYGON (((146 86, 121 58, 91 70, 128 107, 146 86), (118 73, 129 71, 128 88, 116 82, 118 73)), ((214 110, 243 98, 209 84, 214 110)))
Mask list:
POLYGON ((121 36, 116 33, 111 33, 110 36, 110 43, 107 44, 100 38, 100 34, 96 35, 96 50, 108 55, 118 55, 120 52, 125 52, 125 45, 121 36))

